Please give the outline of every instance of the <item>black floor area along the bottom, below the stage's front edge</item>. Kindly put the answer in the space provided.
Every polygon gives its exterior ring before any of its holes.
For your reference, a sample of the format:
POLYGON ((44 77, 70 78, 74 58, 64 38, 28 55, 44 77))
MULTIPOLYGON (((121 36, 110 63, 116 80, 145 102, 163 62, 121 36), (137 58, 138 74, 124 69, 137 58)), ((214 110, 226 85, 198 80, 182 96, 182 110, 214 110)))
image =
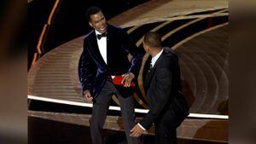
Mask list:
MULTIPOLYGON (((126 144, 125 133, 105 130, 107 144, 126 144)), ((145 144, 154 144, 154 136, 143 135, 145 144)), ((91 144, 90 129, 86 126, 28 117, 28 144, 91 144)), ((178 139, 178 144, 220 144, 212 141, 178 139)))

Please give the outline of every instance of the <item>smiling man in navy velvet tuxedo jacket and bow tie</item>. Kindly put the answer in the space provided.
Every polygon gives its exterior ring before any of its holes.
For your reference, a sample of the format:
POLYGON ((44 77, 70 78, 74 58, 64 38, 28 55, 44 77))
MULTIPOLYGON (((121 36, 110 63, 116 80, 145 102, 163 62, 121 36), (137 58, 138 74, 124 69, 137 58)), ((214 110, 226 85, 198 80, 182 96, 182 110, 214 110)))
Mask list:
POLYGON ((131 128, 136 124, 130 86, 137 78, 143 54, 139 53, 125 30, 107 24, 101 9, 91 7, 86 16, 94 30, 84 37, 79 76, 85 100, 93 101, 90 118, 92 142, 105 142, 102 127, 107 117, 109 101, 114 94, 119 98, 126 139, 129 144, 138 143, 137 138, 129 136, 131 128), (128 54, 132 55, 131 63, 128 54), (113 84, 112 78, 116 76, 123 77, 123 85, 113 84))

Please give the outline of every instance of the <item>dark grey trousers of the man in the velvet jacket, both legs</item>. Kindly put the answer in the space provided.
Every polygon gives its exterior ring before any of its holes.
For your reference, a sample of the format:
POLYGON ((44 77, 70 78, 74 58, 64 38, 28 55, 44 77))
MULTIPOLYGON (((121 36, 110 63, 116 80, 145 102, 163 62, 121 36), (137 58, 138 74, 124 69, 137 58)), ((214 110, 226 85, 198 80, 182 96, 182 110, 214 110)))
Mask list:
POLYGON ((93 144, 104 144, 104 136, 102 135, 102 127, 107 118, 107 112, 109 107, 109 101, 112 95, 115 94, 119 98, 121 113, 123 117, 123 124, 125 128, 125 135, 128 144, 139 143, 137 138, 130 137, 130 130, 133 128, 136 122, 135 112, 134 112, 134 100, 133 97, 125 96, 119 94, 118 90, 114 87, 110 78, 108 78, 106 84, 102 88, 100 94, 94 100, 92 107, 92 114, 90 118, 90 135, 93 144))

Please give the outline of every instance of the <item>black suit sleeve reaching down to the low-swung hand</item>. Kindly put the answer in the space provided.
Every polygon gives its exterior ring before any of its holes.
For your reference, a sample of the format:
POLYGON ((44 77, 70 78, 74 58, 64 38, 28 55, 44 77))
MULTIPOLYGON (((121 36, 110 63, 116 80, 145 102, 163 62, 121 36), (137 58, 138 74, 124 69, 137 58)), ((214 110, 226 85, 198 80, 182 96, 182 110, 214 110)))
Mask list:
MULTIPOLYGON (((152 82, 151 82, 152 83, 152 82)), ((142 119, 140 124, 149 129, 151 125, 160 116, 160 113, 167 107, 167 104, 172 101, 171 89, 172 89, 172 72, 170 69, 162 68, 156 73, 155 88, 152 95, 156 99, 156 104, 152 107, 146 116, 142 119)))

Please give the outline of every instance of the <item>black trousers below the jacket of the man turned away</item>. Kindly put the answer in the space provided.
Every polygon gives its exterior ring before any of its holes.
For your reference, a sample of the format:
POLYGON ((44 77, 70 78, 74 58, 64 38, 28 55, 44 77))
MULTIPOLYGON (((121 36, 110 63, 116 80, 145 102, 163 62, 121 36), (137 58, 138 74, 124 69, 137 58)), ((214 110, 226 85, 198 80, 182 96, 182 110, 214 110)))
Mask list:
POLYGON ((155 125, 155 144, 177 144, 176 128, 168 127, 166 124, 155 125))

